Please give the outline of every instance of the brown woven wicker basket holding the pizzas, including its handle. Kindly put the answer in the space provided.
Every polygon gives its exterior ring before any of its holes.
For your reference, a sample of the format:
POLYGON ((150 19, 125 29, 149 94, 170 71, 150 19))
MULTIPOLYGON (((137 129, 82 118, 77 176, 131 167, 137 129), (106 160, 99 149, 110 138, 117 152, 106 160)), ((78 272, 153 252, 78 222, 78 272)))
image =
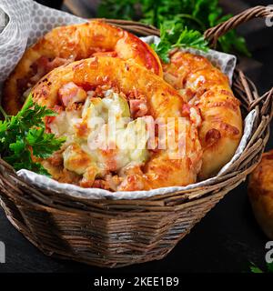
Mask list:
MULTIPOLYGON (((212 45, 229 29, 254 17, 257 6, 207 30, 212 45)), ((271 15, 273 16, 273 15, 271 15)), ((137 35, 158 35, 155 27, 106 20, 137 35)), ((48 256, 95 266, 119 267, 160 259, 257 166, 268 141, 273 89, 259 96, 255 85, 236 71, 233 90, 243 114, 256 108, 253 133, 242 156, 210 186, 139 200, 85 200, 28 185, 0 159, 0 196, 11 223, 48 256)))

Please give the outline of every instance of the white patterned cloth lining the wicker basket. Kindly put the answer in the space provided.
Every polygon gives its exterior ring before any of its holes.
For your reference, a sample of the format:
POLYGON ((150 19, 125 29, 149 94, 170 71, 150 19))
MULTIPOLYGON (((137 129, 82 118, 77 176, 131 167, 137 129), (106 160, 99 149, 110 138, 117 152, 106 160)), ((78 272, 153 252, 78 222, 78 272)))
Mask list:
MULTIPOLYGON (((25 47, 35 43, 38 37, 45 35, 46 32, 56 26, 86 22, 83 18, 69 15, 65 12, 45 7, 44 5, 39 5, 32 0, 1 0, 0 9, 9 16, 9 23, 0 34, 0 87, 24 54, 25 47)), ((155 35, 142 37, 142 39, 148 44, 152 42, 156 43, 159 40, 155 35)), ((213 65, 216 65, 228 76, 231 83, 233 71, 236 65, 235 55, 228 55, 214 50, 208 50, 207 53, 194 49, 187 49, 187 51, 197 55, 206 56, 213 65)), ((231 166, 239 156, 241 156, 241 153, 251 136, 256 114, 257 112, 254 109, 246 117, 244 123, 244 134, 236 154, 226 166, 223 166, 217 176, 227 171, 228 167, 231 166)), ((59 183, 51 178, 35 174, 34 172, 25 169, 18 171, 17 174, 26 182, 37 187, 50 189, 56 193, 63 193, 65 195, 86 199, 139 199, 159 194, 172 193, 178 190, 192 189, 198 186, 208 186, 215 183, 217 179, 217 176, 215 176, 193 185, 164 187, 150 191, 110 192, 104 189, 82 188, 80 186, 59 183)))

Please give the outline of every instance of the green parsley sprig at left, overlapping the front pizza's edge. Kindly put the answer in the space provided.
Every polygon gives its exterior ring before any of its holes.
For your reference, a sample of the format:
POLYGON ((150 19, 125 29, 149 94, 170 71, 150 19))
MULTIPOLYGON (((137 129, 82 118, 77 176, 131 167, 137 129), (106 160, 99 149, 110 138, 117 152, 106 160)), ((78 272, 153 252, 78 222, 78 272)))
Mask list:
POLYGON ((45 133, 45 116, 55 116, 56 112, 45 106, 37 105, 29 95, 25 105, 17 115, 6 115, 0 111, 5 120, 0 120, 0 155, 15 170, 28 169, 38 174, 50 176, 45 168, 35 162, 51 156, 65 142, 65 137, 56 138, 45 133))

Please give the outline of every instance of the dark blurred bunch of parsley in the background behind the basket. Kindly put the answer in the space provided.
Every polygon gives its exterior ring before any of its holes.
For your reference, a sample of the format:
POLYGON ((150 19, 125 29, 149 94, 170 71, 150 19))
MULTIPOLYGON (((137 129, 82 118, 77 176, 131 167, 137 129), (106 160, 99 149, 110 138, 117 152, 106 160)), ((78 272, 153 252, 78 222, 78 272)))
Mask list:
MULTIPOLYGON (((232 16, 223 14, 218 0, 102 0, 97 15, 137 20, 158 28, 165 25, 165 22, 175 21, 181 25, 182 30, 187 27, 189 31, 197 30, 202 35, 207 28, 232 16)), ((235 30, 219 37, 217 46, 226 53, 236 51, 250 56, 244 37, 238 36, 235 30)))

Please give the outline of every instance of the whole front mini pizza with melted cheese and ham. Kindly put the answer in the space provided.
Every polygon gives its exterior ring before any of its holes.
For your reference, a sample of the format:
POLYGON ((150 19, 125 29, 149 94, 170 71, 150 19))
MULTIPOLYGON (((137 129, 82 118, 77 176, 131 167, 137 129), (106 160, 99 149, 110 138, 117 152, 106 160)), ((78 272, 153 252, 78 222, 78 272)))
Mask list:
POLYGON ((31 94, 57 112, 45 120, 47 130, 66 136, 43 161, 56 180, 112 191, 196 182, 202 158, 196 108, 144 66, 96 56, 54 69, 31 94))

